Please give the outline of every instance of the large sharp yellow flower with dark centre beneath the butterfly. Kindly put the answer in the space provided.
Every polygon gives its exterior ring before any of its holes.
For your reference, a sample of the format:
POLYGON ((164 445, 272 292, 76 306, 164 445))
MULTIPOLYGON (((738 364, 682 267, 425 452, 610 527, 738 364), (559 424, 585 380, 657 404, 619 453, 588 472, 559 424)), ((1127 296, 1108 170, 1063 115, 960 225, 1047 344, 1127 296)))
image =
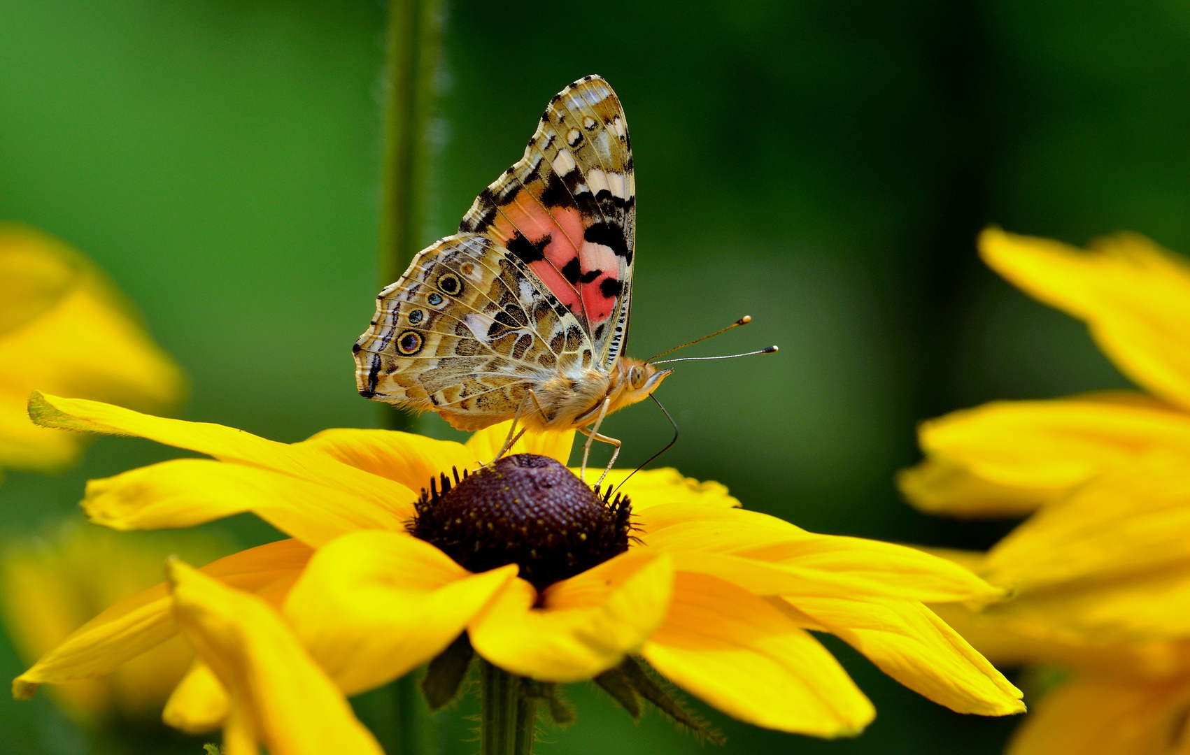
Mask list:
MULTIPOLYGON (((1023 710, 1020 692, 923 605, 992 600, 1002 590, 912 548, 816 535, 741 510, 724 486, 674 470, 640 472, 622 485, 627 473, 609 476, 631 499, 631 540, 618 529, 626 521, 618 514, 626 515, 622 501, 595 507, 610 529, 583 529, 577 514, 566 516, 593 493, 568 487, 568 479, 581 484, 549 460, 566 459, 572 432, 527 435, 513 453, 537 457, 506 458, 494 471, 452 484, 446 476, 453 470, 474 470, 495 454, 507 426, 477 433, 466 445, 356 429, 284 445, 83 399, 35 396, 30 411, 52 427, 140 435, 214 457, 93 480, 83 508, 92 521, 115 529, 184 527, 253 511, 292 535, 200 572, 214 578, 211 584, 253 592, 275 606, 347 694, 438 658, 466 633, 482 659, 541 682, 596 678, 614 686, 626 659, 640 656, 741 721, 825 737, 856 734, 875 711, 809 629, 838 635, 953 710, 1023 710), (509 480, 505 487, 493 482, 500 474, 509 480), (443 492, 431 486, 439 479, 443 492), (532 490, 509 492, 514 484, 532 490), (557 490, 533 492, 546 484, 557 490), (476 496, 484 485, 490 495, 476 496), (427 486, 431 492, 419 498, 427 486), (445 516, 452 499, 446 489, 471 491, 457 516, 445 516), (520 495, 544 508, 528 515, 520 495), (560 524, 551 529, 546 520, 560 524), (413 536, 411 522, 438 546, 413 536), (472 535, 502 535, 461 540, 449 529, 456 524, 472 535), (534 528, 536 540, 515 534, 534 528), (618 555, 603 560, 609 553, 601 548, 616 537, 618 555), (559 542, 570 545, 559 549, 559 542), (471 548, 478 554, 468 555, 471 545, 482 545, 482 553, 471 548), (512 558, 482 566, 506 546, 508 553, 521 548, 515 552, 528 566, 518 568, 512 558), (603 555, 595 562, 566 558, 588 552, 603 555)), ((177 629, 170 606, 163 589, 117 604, 21 674, 14 694, 111 671, 162 642, 177 629)), ((175 692, 167 719, 190 730, 218 725, 226 717, 219 686, 199 667, 175 692)), ((284 685, 273 693, 301 704, 284 685)))

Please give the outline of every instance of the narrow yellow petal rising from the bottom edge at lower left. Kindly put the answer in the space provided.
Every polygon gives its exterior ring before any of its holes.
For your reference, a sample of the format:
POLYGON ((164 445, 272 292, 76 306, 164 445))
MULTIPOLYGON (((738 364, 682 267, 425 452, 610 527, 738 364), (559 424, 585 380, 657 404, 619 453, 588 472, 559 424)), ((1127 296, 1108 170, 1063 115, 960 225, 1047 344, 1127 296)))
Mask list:
MULTIPOLYGON (((180 561, 168 571, 186 638, 227 690, 232 717, 250 721, 269 753, 383 755, 268 603, 180 561)), ((234 748, 243 744, 243 737, 234 737, 234 748)))

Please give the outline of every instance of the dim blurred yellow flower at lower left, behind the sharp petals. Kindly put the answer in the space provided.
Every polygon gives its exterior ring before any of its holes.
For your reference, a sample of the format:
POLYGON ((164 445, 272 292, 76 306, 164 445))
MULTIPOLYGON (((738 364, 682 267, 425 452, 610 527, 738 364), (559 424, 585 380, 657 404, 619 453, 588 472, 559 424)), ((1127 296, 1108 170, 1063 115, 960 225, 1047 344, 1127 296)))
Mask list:
MULTIPOLYGON (((209 560, 219 549, 196 534, 145 539, 82 522, 13 539, 0 549, 0 618, 31 663, 104 608, 158 581, 170 553, 209 560)), ((151 721, 193 655, 181 638, 168 640, 108 675, 56 687, 55 699, 90 725, 151 721)))

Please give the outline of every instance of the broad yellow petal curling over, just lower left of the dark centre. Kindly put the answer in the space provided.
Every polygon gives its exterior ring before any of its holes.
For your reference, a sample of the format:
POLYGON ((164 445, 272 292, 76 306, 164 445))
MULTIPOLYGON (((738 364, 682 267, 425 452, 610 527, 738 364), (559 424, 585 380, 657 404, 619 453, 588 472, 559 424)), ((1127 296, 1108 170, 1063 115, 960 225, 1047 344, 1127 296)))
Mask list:
POLYGON ((516 575, 471 574, 412 535, 362 531, 324 546, 286 600, 311 655, 349 694, 431 660, 516 575))

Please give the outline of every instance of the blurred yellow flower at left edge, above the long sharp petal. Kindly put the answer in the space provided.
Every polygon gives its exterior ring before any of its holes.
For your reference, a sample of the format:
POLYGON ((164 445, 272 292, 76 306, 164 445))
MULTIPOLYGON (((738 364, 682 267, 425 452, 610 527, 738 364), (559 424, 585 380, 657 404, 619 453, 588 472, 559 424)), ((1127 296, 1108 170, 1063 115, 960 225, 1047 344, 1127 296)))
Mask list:
POLYGON ((0 470, 52 472, 79 455, 82 436, 29 421, 35 389, 145 410, 186 392, 102 271, 57 239, 0 224, 0 470))

